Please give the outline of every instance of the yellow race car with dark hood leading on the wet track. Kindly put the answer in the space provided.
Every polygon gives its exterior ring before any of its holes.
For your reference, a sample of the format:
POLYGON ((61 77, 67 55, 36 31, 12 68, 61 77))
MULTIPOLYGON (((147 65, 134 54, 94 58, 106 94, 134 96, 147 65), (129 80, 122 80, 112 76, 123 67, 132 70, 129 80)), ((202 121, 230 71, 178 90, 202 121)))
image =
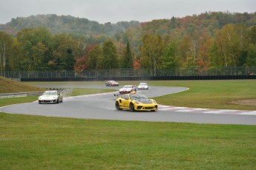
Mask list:
POLYGON ((143 94, 128 93, 116 98, 115 106, 117 110, 129 109, 131 111, 155 111, 157 102, 143 94))

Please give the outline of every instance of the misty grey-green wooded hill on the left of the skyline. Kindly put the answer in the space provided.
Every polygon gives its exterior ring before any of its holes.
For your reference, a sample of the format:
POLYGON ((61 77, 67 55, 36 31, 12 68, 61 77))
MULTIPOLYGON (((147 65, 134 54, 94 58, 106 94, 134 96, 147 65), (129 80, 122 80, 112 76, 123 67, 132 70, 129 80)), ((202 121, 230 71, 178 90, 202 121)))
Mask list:
POLYGON ((0 31, 16 35, 16 33, 24 28, 45 27, 52 34, 72 33, 76 35, 112 36, 116 33, 124 33, 130 27, 139 24, 139 21, 120 21, 116 24, 111 24, 110 22, 99 24, 97 21, 90 21, 87 18, 47 14, 12 18, 7 24, 0 24, 0 31))

